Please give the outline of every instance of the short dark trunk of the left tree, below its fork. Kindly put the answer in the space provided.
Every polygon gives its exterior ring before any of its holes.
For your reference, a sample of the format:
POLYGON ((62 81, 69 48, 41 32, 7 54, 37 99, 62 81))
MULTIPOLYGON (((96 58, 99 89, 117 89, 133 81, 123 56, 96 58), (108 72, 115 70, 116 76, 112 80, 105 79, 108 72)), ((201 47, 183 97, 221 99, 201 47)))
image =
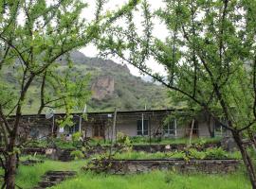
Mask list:
POLYGON ((8 157, 8 164, 7 164, 7 188, 8 189, 15 189, 15 172, 16 172, 16 155, 11 153, 8 157))

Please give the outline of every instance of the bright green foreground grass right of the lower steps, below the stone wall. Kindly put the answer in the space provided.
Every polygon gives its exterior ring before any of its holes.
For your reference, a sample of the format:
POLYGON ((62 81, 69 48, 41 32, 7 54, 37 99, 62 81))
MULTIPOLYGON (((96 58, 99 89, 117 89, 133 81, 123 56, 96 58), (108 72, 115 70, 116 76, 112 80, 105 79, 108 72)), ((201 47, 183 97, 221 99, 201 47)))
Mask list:
POLYGON ((66 180, 54 189, 248 189, 248 180, 242 174, 234 175, 180 175, 155 171, 148 174, 110 176, 82 173, 66 180))

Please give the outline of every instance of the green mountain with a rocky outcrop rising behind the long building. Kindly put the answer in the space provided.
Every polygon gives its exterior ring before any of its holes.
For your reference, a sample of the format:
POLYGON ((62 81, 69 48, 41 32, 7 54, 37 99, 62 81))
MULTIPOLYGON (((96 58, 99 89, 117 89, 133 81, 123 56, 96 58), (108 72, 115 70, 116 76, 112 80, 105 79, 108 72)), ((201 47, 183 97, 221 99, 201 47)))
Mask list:
MULTIPOLYGON (((92 97, 87 103, 88 112, 113 111, 115 107, 119 111, 144 110, 145 107, 163 109, 169 105, 165 88, 132 75, 125 64, 101 58, 88 58, 79 51, 72 52, 70 59, 74 62, 72 71, 81 77, 91 75, 89 88, 92 97)), ((58 69, 67 67, 64 59, 59 61, 61 66, 58 69)), ((7 73, 6 77, 10 83, 13 82, 11 72, 7 73)), ((25 113, 36 112, 39 90, 38 85, 34 83, 29 91, 25 113)))

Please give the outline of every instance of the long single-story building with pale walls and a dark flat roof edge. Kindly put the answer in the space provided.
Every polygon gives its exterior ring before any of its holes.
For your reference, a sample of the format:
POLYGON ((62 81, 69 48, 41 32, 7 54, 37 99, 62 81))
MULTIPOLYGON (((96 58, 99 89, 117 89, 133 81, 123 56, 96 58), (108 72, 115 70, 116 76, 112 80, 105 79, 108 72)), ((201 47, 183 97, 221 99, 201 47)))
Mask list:
POLYGON ((220 123, 213 119, 208 120, 203 113, 192 117, 182 110, 119 111, 116 116, 115 112, 87 112, 85 117, 82 113, 72 115, 73 126, 71 127, 59 127, 58 120, 64 118, 64 113, 55 113, 52 116, 23 115, 21 123, 28 126, 30 136, 36 138, 43 138, 50 134, 68 135, 78 131, 86 138, 103 139, 115 138, 119 132, 131 137, 175 138, 189 136, 191 132, 193 136, 210 137, 210 130, 211 135, 213 132, 214 136, 229 134, 220 123), (175 118, 176 112, 181 115, 179 118, 175 118))

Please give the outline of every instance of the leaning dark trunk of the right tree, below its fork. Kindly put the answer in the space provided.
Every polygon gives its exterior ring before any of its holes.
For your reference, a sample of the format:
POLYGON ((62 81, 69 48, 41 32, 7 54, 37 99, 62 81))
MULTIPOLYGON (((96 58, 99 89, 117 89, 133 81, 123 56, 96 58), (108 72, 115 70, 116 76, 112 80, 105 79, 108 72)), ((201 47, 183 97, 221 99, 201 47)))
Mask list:
POLYGON ((253 163, 251 161, 251 158, 249 157, 249 155, 247 153, 247 149, 243 145, 241 135, 236 130, 232 131, 232 135, 233 135, 234 141, 236 142, 236 144, 237 144, 237 146, 238 146, 238 148, 239 148, 239 150, 242 154, 242 158, 243 158, 243 161, 244 161, 245 166, 247 168, 247 174, 248 174, 249 180, 251 182, 252 189, 256 189, 255 169, 254 169, 253 163))

